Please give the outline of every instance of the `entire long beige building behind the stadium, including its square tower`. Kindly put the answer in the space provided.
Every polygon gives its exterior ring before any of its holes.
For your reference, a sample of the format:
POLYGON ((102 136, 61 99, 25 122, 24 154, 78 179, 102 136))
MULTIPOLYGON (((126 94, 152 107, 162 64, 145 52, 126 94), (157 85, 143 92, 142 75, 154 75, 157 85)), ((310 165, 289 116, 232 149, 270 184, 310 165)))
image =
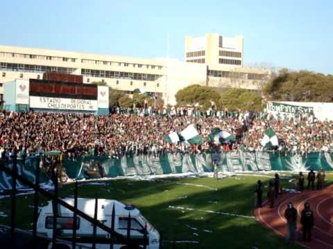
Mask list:
POLYGON ((267 72, 243 67, 243 42, 242 36, 186 37, 185 62, 0 46, 0 97, 4 82, 41 79, 46 71, 83 75, 85 83, 106 82, 125 93, 157 93, 171 105, 190 84, 259 89, 267 72))

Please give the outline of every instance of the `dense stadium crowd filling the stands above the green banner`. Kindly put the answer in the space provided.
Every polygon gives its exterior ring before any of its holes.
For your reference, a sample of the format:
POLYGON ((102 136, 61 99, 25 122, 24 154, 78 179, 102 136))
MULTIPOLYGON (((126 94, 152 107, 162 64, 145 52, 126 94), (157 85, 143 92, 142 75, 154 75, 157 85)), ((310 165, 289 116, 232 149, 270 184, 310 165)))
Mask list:
MULTIPOLYGON (((313 119, 275 119, 262 113, 210 112, 204 115, 181 113, 112 113, 94 116, 79 113, 0 112, 1 154, 13 147, 23 154, 62 151, 80 154, 154 154, 164 151, 200 153, 212 149, 261 151, 265 130, 272 127, 279 138, 278 151, 333 151, 333 122, 313 119), (171 131, 180 132, 195 124, 202 145, 185 142, 169 144, 164 140, 171 131), (216 145, 208 139, 218 127, 231 133, 235 142, 216 145)), ((272 149, 272 148, 270 148, 272 149)))

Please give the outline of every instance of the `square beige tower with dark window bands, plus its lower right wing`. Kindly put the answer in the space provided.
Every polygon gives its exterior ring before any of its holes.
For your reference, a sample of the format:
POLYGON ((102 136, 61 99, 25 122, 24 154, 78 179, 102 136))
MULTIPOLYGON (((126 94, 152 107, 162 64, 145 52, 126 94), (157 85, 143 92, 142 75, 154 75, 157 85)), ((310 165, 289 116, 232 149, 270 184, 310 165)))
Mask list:
POLYGON ((207 66, 207 86, 259 90, 271 74, 264 68, 244 67, 242 35, 186 36, 185 61, 207 66))

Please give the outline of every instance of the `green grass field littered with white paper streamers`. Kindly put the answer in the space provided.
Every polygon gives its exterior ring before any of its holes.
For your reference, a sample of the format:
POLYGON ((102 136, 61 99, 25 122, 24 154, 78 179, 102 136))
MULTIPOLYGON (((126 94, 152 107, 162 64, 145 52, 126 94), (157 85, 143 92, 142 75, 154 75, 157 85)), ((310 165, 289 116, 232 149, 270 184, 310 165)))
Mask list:
MULTIPOLYGON (((292 177, 283 173, 282 187, 295 187, 289 183, 292 177)), ((210 177, 164 178, 155 181, 113 180, 103 181, 103 185, 80 183, 78 194, 85 198, 98 196, 134 204, 162 232, 164 248, 251 248, 254 245, 260 249, 300 248, 266 230, 253 219, 253 191, 259 179, 265 185, 270 180, 265 176, 250 175, 221 180, 210 177), (207 210, 249 217, 205 212, 207 210)), ((332 183, 333 176, 327 175, 327 180, 326 184, 332 183)), ((71 196, 73 191, 72 183, 62 185, 60 196, 71 196)), ((32 229, 32 205, 33 195, 17 197, 19 228, 32 229)), ((0 210, 8 214, 7 217, 0 216, 0 223, 9 225, 10 199, 0 199, 0 210)))

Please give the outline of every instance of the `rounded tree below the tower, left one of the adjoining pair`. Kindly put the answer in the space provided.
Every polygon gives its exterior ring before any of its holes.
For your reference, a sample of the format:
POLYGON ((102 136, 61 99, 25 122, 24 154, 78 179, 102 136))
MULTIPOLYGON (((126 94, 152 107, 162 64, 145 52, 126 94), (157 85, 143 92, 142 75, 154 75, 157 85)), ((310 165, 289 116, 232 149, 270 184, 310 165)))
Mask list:
POLYGON ((200 106, 203 110, 208 109, 211 106, 211 101, 217 103, 219 98, 220 95, 216 89, 208 86, 200 86, 199 84, 187 86, 176 93, 178 106, 200 106))

